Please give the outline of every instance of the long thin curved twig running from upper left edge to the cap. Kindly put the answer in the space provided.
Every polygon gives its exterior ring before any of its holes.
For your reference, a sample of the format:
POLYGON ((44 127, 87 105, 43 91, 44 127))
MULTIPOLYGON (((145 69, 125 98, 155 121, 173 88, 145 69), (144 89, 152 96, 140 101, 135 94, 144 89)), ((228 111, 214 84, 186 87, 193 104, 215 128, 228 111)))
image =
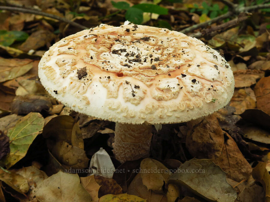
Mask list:
POLYGON ((11 6, 0 6, 0 10, 11 10, 11 11, 18 11, 18 12, 22 12, 22 13, 32 13, 35 15, 40 15, 40 16, 45 16, 45 17, 57 19, 59 21, 66 22, 66 23, 68 23, 74 27, 80 28, 80 29, 89 29, 88 27, 85 27, 85 26, 80 25, 76 22, 70 21, 66 18, 62 18, 62 17, 56 16, 53 14, 49 14, 49 13, 44 13, 44 12, 39 11, 39 10, 21 8, 21 7, 11 7, 11 6))

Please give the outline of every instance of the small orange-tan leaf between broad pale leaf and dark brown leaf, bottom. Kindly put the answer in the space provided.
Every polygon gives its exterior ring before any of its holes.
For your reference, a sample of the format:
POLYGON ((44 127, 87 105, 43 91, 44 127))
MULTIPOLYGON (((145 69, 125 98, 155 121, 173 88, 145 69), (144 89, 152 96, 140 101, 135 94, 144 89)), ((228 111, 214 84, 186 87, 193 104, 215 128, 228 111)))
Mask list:
POLYGON ((98 201, 98 190, 101 186, 96 182, 95 176, 91 175, 88 177, 80 177, 80 180, 82 186, 91 195, 92 201, 98 201))

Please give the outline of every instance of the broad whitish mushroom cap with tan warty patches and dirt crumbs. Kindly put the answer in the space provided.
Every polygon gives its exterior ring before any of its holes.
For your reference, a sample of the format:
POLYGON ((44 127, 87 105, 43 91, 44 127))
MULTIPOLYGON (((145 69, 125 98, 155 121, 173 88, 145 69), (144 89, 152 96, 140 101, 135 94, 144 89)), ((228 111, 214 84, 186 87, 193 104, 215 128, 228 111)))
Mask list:
POLYGON ((38 75, 67 107, 131 124, 207 116, 234 90, 229 64, 202 41, 134 24, 101 24, 63 38, 44 54, 38 75))

